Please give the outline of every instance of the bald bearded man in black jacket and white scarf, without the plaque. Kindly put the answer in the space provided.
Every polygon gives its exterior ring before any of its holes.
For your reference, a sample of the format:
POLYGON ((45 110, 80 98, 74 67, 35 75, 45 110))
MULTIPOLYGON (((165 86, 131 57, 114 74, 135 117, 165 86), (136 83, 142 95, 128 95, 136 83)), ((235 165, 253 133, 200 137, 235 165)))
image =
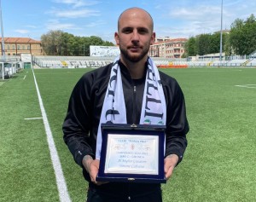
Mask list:
POLYGON ((148 57, 155 38, 153 29, 147 11, 126 9, 119 16, 118 32, 114 34, 119 58, 108 66, 85 73, 73 89, 63 132, 73 158, 89 182, 87 202, 162 201, 158 183, 96 181, 103 123, 143 124, 146 117, 152 119, 151 124, 165 124, 167 179, 183 158, 189 131, 183 92, 176 80, 158 72, 148 57), (144 95, 148 90, 150 93, 144 95), (153 102, 148 103, 150 95, 154 96, 153 102), (108 108, 115 108, 119 115, 107 116, 108 108), (152 116, 156 113, 162 116, 152 116))

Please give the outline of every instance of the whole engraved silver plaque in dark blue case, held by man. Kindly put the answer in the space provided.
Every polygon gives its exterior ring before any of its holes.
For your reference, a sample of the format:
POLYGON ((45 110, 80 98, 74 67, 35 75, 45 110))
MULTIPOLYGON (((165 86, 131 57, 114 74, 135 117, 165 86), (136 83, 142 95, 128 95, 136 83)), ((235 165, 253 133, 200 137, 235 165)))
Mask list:
POLYGON ((102 124, 98 182, 166 183, 163 125, 102 124))

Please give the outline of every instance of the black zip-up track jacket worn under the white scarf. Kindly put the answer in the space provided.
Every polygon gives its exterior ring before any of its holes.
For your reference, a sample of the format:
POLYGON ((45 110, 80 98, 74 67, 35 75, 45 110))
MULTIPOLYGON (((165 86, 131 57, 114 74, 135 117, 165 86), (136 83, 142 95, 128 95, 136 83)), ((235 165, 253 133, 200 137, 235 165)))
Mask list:
MULTIPOLYGON (((121 62, 119 66, 125 95, 127 124, 139 124, 146 72, 141 79, 131 79, 127 68, 121 62)), ((67 117, 62 127, 64 141, 76 163, 83 168, 84 178, 88 182, 90 176, 84 169, 82 159, 84 155, 90 155, 95 159, 98 124, 111 67, 112 64, 103 66, 85 73, 79 79, 70 97, 67 117)), ((160 79, 166 97, 166 156, 175 153, 180 162, 187 147, 186 134, 189 132, 183 92, 174 78, 160 72, 160 79)), ((119 196, 136 196, 160 188, 160 184, 122 182, 110 182, 101 186, 90 182, 89 186, 119 196)))

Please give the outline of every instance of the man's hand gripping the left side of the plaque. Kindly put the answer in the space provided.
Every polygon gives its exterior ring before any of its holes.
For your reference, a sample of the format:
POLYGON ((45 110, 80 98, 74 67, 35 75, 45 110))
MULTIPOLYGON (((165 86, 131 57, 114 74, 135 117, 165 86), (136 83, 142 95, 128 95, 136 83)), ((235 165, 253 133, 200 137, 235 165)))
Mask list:
POLYGON ((83 165, 85 170, 89 173, 90 175, 90 180, 91 182, 95 183, 96 185, 102 185, 108 182, 96 182, 96 176, 99 171, 99 166, 100 166, 100 161, 97 159, 92 159, 90 155, 84 156, 83 159, 83 165))

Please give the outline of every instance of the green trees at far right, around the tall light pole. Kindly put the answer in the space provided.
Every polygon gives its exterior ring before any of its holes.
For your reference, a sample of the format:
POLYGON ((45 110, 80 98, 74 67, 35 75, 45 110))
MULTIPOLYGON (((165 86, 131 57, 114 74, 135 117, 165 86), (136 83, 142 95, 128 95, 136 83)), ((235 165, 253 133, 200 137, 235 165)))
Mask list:
MULTIPOLYGON (((256 50, 256 17, 251 14, 247 20, 236 19, 230 26, 230 33, 223 33, 225 55, 250 55, 256 50)), ((201 34, 189 38, 185 44, 187 56, 219 53, 220 32, 201 34)))

